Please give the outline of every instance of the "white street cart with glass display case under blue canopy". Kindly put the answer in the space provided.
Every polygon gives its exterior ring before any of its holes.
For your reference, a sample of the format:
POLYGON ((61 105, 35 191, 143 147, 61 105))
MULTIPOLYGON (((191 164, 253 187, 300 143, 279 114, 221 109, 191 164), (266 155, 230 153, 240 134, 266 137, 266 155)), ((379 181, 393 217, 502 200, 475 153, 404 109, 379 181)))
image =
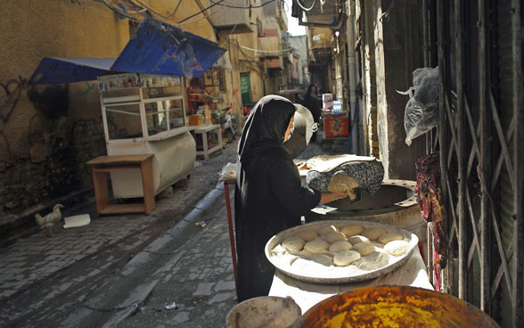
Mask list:
MULTIPOLYGON (((109 156, 153 154, 154 193, 189 176, 196 158, 186 126, 184 86, 179 77, 116 74, 98 78, 109 156)), ((139 172, 111 172, 113 197, 143 197, 139 172)))

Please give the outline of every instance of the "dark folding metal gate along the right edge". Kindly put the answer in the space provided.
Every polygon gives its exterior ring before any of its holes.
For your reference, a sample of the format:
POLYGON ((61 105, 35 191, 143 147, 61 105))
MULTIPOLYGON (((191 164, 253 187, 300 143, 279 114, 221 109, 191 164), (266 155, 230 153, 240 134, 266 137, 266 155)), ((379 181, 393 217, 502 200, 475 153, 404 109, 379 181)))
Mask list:
MULTIPOLYGON (((423 4, 424 20, 437 21, 444 284, 503 326, 515 327, 524 324, 520 5, 423 4)), ((427 52, 434 48, 431 32, 424 31, 427 52)), ((428 63, 431 53, 424 58, 428 63)))

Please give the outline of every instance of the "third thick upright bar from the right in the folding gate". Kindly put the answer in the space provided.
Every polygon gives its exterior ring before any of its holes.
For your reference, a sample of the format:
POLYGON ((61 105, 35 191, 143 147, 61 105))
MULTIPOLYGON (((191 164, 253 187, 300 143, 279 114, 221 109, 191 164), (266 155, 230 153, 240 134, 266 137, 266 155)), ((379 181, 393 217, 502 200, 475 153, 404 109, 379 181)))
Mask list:
POLYGON ((465 299, 466 297, 466 234, 465 234, 465 165, 464 165, 464 85, 463 85, 463 2, 454 2, 454 45, 455 45, 455 71, 456 71, 456 137, 457 137, 457 152, 456 157, 458 161, 458 200, 457 200, 457 218, 458 218, 458 297, 465 299))

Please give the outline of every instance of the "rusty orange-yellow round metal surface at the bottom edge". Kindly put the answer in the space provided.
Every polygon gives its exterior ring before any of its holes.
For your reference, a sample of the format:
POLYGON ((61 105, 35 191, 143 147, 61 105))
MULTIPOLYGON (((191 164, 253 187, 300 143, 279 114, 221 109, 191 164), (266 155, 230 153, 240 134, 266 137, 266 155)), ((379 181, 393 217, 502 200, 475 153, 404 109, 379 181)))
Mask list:
POLYGON ((364 287, 324 299, 300 317, 297 328, 498 327, 461 299, 409 286, 364 287))

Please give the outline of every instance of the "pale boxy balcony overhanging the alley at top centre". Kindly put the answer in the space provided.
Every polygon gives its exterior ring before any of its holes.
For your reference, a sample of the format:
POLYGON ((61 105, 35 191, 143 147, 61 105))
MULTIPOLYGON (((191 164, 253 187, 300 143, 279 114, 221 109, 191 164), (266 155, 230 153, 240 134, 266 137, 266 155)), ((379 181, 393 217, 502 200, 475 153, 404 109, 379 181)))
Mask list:
MULTIPOLYGON (((249 0, 228 0, 227 4, 233 6, 250 6, 249 0)), ((252 15, 251 17, 255 17, 252 15)), ((253 29, 251 26, 257 26, 255 22, 250 19, 250 10, 246 8, 232 8, 222 5, 213 7, 213 14, 211 15, 213 21, 213 28, 231 34, 251 33, 253 29)))

